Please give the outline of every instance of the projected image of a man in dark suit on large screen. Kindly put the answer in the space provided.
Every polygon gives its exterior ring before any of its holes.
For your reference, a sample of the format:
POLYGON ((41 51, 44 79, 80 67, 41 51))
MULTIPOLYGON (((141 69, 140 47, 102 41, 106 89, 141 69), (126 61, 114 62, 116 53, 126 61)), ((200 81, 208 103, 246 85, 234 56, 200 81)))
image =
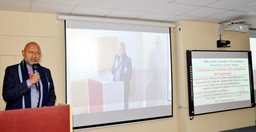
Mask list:
POLYGON ((113 74, 113 81, 123 81, 124 83, 124 97, 125 109, 129 107, 130 95, 130 80, 132 75, 131 58, 125 53, 125 44, 120 43, 117 48, 117 55, 115 56, 114 64, 111 72, 113 74))

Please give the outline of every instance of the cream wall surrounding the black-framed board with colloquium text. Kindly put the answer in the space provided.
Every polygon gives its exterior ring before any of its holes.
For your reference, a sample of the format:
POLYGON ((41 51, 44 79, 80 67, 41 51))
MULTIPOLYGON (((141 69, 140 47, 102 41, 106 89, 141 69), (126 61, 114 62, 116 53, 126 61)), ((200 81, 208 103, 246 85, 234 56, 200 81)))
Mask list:
MULTIPOLYGON (((250 50, 249 33, 225 31, 222 40, 229 40, 229 48, 217 48, 217 29, 215 23, 179 21, 182 31, 174 28, 174 63, 177 104, 187 107, 187 68, 186 50, 250 50)), ((255 125, 255 108, 239 109, 194 116, 189 120, 189 109, 177 109, 179 132, 214 132, 255 125)))

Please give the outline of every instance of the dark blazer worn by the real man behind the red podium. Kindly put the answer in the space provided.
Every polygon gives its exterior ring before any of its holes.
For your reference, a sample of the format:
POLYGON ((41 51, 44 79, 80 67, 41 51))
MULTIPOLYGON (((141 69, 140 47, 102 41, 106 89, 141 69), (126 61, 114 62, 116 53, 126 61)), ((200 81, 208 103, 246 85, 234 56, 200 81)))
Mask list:
MULTIPOLYGON (((4 101, 7 102, 6 108, 5 108, 6 110, 21 109, 20 107, 18 107, 19 98, 22 98, 24 95, 31 92, 31 89, 27 87, 27 80, 23 80, 22 83, 19 83, 18 66, 19 64, 8 66, 5 70, 2 96, 4 101)), ((51 72, 47 68, 44 68, 44 71, 47 76, 48 83, 50 83, 50 85, 49 85, 48 101, 47 103, 42 104, 42 107, 54 106, 56 96, 54 92, 54 85, 52 81, 51 72)), ((48 87, 44 87, 44 88, 48 89, 48 87)))

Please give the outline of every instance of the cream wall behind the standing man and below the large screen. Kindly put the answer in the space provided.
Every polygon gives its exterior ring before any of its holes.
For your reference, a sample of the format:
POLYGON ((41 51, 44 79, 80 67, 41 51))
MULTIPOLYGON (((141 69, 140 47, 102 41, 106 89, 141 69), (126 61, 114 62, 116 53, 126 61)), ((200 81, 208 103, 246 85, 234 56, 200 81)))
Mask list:
MULTIPOLYGON (((65 103, 64 21, 59 21, 59 25, 56 25, 55 14, 2 10, 0 10, 0 18, 0 55, 22 55, 21 50, 24 49, 24 46, 28 42, 37 42, 42 50, 42 65, 49 68, 52 73, 57 96, 56 104, 65 103)), ((3 79, 0 81, 2 82, 3 79)), ((173 95, 173 100, 176 100, 175 97, 176 96, 173 95)), ((0 99, 3 100, 2 97, 0 99)), ((173 105, 176 106, 176 103, 174 102, 173 105)), ((176 110, 174 109, 173 111, 174 117, 176 117, 176 110)), ((171 118, 129 125, 81 130, 81 132, 112 132, 114 130, 118 132, 177 132, 177 123, 176 118, 171 118)))

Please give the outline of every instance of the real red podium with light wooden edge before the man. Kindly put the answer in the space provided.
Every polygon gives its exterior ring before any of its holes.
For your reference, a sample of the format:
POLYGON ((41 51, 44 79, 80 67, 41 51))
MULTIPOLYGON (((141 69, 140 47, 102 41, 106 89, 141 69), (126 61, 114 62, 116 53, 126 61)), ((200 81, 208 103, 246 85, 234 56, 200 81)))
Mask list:
POLYGON ((72 132, 72 106, 27 108, 0 111, 0 131, 72 132))

